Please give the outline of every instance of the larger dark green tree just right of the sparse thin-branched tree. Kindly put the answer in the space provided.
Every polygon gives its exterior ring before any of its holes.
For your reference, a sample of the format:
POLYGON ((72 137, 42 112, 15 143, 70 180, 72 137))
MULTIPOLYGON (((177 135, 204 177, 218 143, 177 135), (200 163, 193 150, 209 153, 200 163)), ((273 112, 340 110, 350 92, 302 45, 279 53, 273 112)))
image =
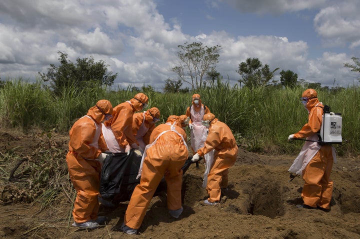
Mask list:
POLYGON ((279 67, 270 71, 268 64, 262 66, 258 58, 249 57, 245 62, 238 65, 236 72, 241 75, 241 79, 238 80, 240 83, 243 82, 249 88, 256 88, 266 85, 274 77, 274 72, 278 69, 279 67))

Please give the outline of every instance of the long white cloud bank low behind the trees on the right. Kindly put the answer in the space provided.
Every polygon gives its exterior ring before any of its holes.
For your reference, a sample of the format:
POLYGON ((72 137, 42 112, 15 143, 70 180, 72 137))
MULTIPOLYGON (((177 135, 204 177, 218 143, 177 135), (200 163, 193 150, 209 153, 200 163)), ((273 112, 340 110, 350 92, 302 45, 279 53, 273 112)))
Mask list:
MULTIPOLYGON (((345 53, 324 52, 317 59, 308 59, 308 45, 304 41, 289 41, 282 36, 239 36, 231 38, 226 32, 212 32, 206 37, 205 45, 221 44, 220 61, 217 71, 232 84, 240 75, 236 72, 238 64, 248 57, 258 58, 262 64, 268 64, 270 69, 280 67, 276 74, 283 70, 291 70, 299 78, 308 82, 320 82, 332 86, 340 84, 347 86, 356 78, 354 72, 343 67, 350 56, 345 53)), ((277 77, 278 78, 278 77, 277 77)))

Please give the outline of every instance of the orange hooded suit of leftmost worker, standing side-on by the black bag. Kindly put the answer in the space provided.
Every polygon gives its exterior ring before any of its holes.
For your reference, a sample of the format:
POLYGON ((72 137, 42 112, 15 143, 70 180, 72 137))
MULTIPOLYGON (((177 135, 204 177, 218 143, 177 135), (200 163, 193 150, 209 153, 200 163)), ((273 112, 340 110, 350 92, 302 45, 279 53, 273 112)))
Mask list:
POLYGON ((76 189, 72 215, 77 223, 97 218, 101 165, 96 158, 101 151, 107 150, 101 137, 100 122, 105 118, 104 113, 111 114, 112 106, 110 101, 102 99, 79 118, 69 131, 66 162, 76 189))

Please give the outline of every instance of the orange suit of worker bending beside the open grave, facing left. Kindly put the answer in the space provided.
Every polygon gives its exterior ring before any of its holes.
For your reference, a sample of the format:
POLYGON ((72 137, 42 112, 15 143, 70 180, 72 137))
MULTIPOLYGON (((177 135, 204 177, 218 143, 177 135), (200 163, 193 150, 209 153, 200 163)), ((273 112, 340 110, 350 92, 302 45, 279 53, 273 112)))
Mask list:
POLYGON ((209 132, 204 146, 197 150, 199 156, 203 156, 214 149, 214 160, 207 175, 206 190, 209 194, 209 202, 220 200, 221 188, 227 187, 228 168, 236 161, 237 145, 231 129, 223 122, 219 121, 212 113, 207 113, 203 117, 209 120, 209 132))

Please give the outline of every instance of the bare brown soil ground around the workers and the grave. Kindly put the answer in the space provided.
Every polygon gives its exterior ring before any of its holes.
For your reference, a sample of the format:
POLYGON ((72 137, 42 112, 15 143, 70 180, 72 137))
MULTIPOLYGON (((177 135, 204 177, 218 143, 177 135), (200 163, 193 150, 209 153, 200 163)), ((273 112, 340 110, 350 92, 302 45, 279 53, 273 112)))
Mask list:
MULTIPOLYGON (((62 180, 61 196, 57 196, 61 198, 44 208, 33 200, 41 192, 33 189, 36 185, 31 186, 30 180, 8 180, 21 158, 30 167, 39 153, 50 153, 55 168, 66 168, 67 140, 67 135, 54 132, 23 135, 0 131, 1 238, 360 238, 358 157, 338 157, 331 173, 331 210, 325 212, 295 207, 302 203, 303 185, 298 176, 289 181, 287 169, 295 155, 265 156, 244 149, 239 149, 237 161, 229 169, 229 186, 218 205, 203 204, 207 197, 201 187, 204 165, 200 163, 197 169, 191 164, 183 176, 184 210, 178 219, 167 214, 166 195, 160 193, 151 200, 137 235, 113 230, 122 223, 127 202, 115 209, 100 207, 99 214, 109 218, 105 225, 77 229, 70 225, 74 190, 67 175, 65 180, 58 179, 62 180)), ((22 169, 22 174, 14 175, 26 178, 29 173, 22 169)))

